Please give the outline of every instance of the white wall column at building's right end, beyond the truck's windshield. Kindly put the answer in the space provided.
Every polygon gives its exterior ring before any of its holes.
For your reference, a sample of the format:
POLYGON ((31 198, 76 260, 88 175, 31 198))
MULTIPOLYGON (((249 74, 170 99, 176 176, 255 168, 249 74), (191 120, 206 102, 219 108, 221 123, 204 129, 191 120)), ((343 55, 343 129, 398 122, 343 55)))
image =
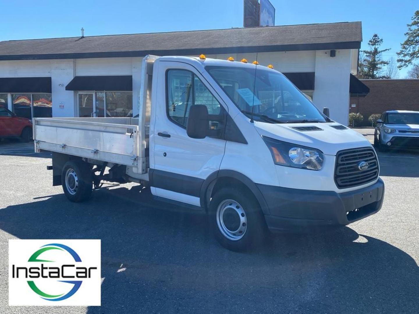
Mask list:
POLYGON ((328 107, 331 119, 348 125, 351 51, 336 50, 336 57, 330 57, 330 50, 316 51, 315 72, 313 103, 320 110, 328 107))

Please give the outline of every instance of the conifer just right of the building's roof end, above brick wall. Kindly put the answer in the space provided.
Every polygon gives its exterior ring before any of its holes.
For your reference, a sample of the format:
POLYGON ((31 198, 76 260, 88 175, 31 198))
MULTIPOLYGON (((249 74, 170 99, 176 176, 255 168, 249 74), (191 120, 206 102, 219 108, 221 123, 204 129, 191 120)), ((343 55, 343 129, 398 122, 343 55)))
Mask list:
POLYGON ((362 50, 363 56, 360 58, 358 67, 360 77, 365 79, 388 78, 385 75, 381 75, 383 66, 389 63, 388 61, 381 59, 381 54, 390 49, 380 50, 381 44, 383 44, 383 39, 377 34, 374 34, 368 41, 370 49, 362 50))

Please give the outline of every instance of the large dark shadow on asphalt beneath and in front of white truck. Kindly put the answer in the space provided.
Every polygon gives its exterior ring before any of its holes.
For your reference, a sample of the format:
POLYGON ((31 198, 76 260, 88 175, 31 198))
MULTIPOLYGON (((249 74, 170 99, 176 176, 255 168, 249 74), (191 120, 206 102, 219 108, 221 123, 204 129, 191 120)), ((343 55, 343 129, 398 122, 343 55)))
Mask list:
POLYGON ((231 252, 205 214, 117 187, 85 203, 59 194, 8 206, 0 228, 21 239, 101 239, 102 306, 89 314, 419 312, 414 259, 349 227, 231 252))

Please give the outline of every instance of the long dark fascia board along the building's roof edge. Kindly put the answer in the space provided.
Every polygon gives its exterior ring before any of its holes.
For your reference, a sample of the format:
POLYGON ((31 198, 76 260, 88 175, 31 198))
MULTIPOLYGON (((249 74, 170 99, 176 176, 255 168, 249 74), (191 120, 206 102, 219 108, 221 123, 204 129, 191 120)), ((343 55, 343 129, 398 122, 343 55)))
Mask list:
POLYGON ((168 50, 137 50, 137 51, 109 51, 109 52, 83 52, 68 54, 17 54, 0 55, 2 60, 47 60, 47 59, 88 59, 88 58, 115 58, 115 57, 144 57, 147 54, 156 56, 189 56, 199 54, 235 54, 252 52, 274 51, 308 51, 308 50, 332 50, 332 49, 360 49, 360 41, 344 41, 319 44, 292 44, 273 46, 238 46, 218 48, 194 48, 194 49, 168 49, 168 50))

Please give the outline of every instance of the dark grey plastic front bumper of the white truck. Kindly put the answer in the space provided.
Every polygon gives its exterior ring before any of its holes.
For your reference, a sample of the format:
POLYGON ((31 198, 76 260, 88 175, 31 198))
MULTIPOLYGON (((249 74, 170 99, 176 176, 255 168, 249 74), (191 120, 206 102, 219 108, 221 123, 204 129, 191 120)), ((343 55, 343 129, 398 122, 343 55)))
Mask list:
POLYGON ((378 212, 383 205, 384 183, 345 193, 298 190, 257 185, 268 205, 265 214, 271 231, 345 226, 378 212))

